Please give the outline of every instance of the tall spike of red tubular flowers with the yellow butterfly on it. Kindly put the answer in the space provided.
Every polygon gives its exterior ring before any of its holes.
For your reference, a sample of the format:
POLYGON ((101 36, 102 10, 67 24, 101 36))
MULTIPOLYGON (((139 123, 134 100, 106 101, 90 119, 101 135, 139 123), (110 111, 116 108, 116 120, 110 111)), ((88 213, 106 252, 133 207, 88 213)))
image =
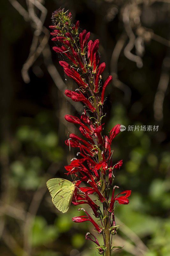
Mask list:
MULTIPOLYGON (((65 140, 69 148, 77 149, 76 158, 65 166, 65 174, 70 178, 75 176, 78 180, 71 183, 56 178, 57 188, 52 185, 49 190, 51 189, 54 203, 56 197, 60 204, 68 207, 71 202, 74 206, 86 205, 93 217, 88 210, 80 208, 78 211, 84 211, 85 215, 73 217, 72 220, 78 223, 90 221, 95 231, 102 235, 103 243, 100 244, 89 232, 85 238, 94 242, 100 254, 111 256, 111 250, 116 247, 111 247, 110 236, 116 234, 114 204, 116 201, 119 204, 129 204, 131 193, 130 190, 126 190, 115 196, 114 191, 118 187, 114 186, 111 201, 109 200, 114 174, 122 166, 122 160, 112 164, 114 151, 111 150, 111 143, 120 132, 120 124, 115 124, 108 135, 101 122, 105 115, 102 111, 106 87, 111 83, 112 76, 103 81, 106 63, 100 62, 99 39, 92 41, 90 32, 85 29, 80 31, 79 21, 74 23, 70 12, 59 9, 53 13, 52 21, 53 24, 49 28, 52 29, 51 40, 55 44, 53 50, 63 56, 64 60, 59 61, 63 73, 69 76, 76 86, 75 90, 65 90, 65 95, 74 102, 81 102, 84 105, 84 112, 79 117, 76 114, 65 115, 65 120, 75 124, 79 129, 78 134, 71 133, 65 140), (68 185, 65 190, 64 183, 68 185), (60 194, 61 191, 63 194, 60 194)), ((55 179, 52 179, 52 184, 53 182, 55 183, 55 179)), ((61 210, 58 201, 55 206, 61 210)))

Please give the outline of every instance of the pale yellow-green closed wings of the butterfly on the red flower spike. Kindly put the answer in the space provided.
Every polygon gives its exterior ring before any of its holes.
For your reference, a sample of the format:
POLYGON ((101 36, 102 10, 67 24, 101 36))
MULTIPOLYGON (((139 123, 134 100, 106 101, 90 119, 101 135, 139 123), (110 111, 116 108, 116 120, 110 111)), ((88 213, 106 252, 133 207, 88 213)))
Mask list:
POLYGON ((55 207, 60 212, 67 212, 74 195, 75 185, 69 180, 54 178, 47 181, 47 187, 55 207))

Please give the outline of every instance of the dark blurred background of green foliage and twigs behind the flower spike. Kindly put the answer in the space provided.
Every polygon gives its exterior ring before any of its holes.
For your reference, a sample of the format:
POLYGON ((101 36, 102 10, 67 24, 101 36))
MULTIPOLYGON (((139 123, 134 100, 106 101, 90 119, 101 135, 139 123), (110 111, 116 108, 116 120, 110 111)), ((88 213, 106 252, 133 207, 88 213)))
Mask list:
POLYGON ((0 255, 98 255, 85 241, 90 223, 71 221, 78 207, 62 214, 46 188, 48 179, 66 178, 64 165, 75 156, 64 140, 79 133, 64 115, 83 112, 64 96, 75 84, 51 50, 48 26, 59 7, 69 9, 92 40, 100 39, 107 64, 103 78, 113 76, 106 91, 105 133, 118 123, 127 127, 114 139, 113 162, 123 159, 115 185, 132 195, 128 205, 115 209, 116 224, 125 224, 113 240, 124 247, 113 255, 169 256, 168 0, 0 1, 0 255), (159 128, 128 131, 135 125, 159 128))

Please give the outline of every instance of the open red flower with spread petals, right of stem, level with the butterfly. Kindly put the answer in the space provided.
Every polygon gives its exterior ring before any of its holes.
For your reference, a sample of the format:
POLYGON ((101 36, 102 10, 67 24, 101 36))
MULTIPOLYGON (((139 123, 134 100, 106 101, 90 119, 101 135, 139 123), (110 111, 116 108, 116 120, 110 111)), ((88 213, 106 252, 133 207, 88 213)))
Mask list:
POLYGON ((117 195, 114 197, 115 188, 119 188, 119 187, 115 186, 115 187, 113 188, 112 198, 111 198, 111 202, 110 202, 110 205, 109 205, 109 208, 108 208, 108 211, 109 211, 109 212, 113 212, 115 201, 118 201, 119 204, 129 204, 129 199, 128 199, 127 197, 130 196, 131 190, 125 190, 125 191, 123 191, 123 192, 117 194, 117 195), (126 195, 125 195, 125 196, 119 196, 119 195, 121 195, 121 194, 126 194, 126 195), (119 196, 119 197, 117 197, 117 196, 119 196))

